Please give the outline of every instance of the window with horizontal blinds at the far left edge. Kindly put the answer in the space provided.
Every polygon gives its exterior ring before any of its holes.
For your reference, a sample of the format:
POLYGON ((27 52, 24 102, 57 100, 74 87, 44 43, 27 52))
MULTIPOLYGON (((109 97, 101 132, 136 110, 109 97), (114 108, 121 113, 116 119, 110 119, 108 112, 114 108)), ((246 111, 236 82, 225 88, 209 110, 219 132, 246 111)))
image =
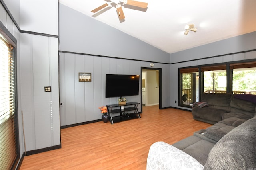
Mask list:
POLYGON ((17 160, 15 68, 13 47, 0 34, 0 170, 14 169, 17 160))

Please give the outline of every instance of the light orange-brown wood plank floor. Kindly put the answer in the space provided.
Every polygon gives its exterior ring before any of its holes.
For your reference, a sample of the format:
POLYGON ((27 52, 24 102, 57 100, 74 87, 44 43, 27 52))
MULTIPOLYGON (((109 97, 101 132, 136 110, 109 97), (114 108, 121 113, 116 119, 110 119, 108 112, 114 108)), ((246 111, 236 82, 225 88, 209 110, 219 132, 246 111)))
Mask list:
POLYGON ((141 119, 90 123, 61 130, 61 149, 26 156, 20 170, 145 170, 156 141, 173 144, 211 125, 191 112, 143 107, 141 119))

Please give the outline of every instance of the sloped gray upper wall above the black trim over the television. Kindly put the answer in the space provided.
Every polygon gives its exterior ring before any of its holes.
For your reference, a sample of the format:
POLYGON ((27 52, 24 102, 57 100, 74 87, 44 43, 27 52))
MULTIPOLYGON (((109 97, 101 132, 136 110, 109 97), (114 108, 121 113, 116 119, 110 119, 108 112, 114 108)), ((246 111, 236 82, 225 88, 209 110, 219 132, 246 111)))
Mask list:
POLYGON ((169 53, 63 4, 59 27, 60 51, 170 63, 169 53))

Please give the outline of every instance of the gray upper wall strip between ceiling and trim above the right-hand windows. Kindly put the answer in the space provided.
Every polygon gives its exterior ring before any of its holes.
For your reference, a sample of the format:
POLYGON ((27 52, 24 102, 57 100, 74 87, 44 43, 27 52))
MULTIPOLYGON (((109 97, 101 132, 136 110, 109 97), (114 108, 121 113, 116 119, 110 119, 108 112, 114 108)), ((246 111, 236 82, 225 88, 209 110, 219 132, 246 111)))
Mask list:
POLYGON ((256 31, 170 54, 171 63, 256 49, 256 31))

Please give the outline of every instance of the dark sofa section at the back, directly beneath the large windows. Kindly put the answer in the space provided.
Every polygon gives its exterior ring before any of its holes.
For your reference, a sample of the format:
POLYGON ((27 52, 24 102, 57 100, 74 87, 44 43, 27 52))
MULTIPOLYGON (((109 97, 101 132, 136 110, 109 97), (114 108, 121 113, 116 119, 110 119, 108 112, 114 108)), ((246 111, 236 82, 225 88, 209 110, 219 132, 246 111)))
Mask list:
POLYGON ((194 104, 192 115, 195 120, 215 124, 228 117, 250 119, 255 115, 255 95, 230 93, 204 93, 201 101, 209 106, 200 108, 194 104))

